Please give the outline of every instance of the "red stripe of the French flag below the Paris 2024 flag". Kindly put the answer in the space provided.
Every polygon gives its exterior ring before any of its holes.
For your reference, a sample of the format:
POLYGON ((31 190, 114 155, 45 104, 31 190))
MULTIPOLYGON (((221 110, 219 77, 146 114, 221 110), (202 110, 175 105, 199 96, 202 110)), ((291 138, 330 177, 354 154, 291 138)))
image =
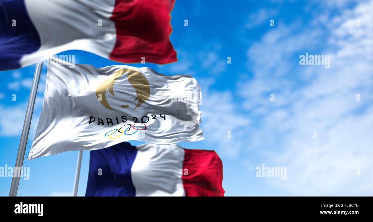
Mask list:
POLYGON ((224 196, 223 164, 217 153, 200 149, 184 149, 184 152, 181 179, 185 196, 224 196))

